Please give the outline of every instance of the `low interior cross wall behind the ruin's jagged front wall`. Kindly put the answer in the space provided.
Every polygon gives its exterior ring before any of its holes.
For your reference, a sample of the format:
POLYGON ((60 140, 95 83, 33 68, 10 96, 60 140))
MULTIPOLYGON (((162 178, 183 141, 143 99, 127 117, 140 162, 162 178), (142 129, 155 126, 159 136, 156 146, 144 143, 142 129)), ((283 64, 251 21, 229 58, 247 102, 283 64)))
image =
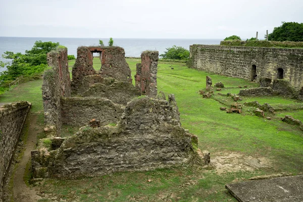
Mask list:
POLYGON ((84 126, 92 119, 100 125, 117 123, 125 106, 115 104, 106 98, 96 97, 62 97, 61 121, 71 126, 84 126))

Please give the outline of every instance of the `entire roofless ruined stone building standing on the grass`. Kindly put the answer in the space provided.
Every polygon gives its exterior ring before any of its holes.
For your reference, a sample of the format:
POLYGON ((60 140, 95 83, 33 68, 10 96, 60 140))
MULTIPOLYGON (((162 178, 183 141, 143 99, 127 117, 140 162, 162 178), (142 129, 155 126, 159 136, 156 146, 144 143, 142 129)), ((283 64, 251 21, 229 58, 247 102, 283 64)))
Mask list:
POLYGON ((52 69, 42 85, 47 138, 31 152, 34 177, 73 179, 204 164, 197 137, 181 127, 174 95, 168 101, 163 92, 157 95, 158 56, 141 54, 134 86, 122 47, 78 47, 72 81, 67 49, 48 53, 52 69), (99 71, 92 66, 95 52, 99 71), (61 137, 62 124, 80 129, 61 137))

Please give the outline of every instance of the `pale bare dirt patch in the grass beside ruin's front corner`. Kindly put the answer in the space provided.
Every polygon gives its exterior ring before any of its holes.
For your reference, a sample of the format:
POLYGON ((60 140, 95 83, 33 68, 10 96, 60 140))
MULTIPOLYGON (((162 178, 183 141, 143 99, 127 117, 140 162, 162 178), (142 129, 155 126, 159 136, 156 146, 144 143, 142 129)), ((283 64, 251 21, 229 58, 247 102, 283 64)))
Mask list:
POLYGON ((265 157, 245 156, 240 153, 214 154, 211 157, 211 165, 215 168, 216 173, 238 171, 254 171, 261 168, 272 168, 272 163, 265 157))

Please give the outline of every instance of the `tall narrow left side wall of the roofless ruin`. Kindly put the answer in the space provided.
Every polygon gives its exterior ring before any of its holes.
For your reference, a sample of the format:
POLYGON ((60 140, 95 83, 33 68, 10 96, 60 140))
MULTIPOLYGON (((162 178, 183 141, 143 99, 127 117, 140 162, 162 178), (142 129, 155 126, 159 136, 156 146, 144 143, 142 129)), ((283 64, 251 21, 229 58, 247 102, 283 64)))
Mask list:
POLYGON ((61 128, 60 97, 71 94, 70 73, 67 62, 67 49, 47 54, 48 66, 52 69, 44 72, 42 84, 42 100, 44 108, 44 124, 51 136, 58 136, 61 128))

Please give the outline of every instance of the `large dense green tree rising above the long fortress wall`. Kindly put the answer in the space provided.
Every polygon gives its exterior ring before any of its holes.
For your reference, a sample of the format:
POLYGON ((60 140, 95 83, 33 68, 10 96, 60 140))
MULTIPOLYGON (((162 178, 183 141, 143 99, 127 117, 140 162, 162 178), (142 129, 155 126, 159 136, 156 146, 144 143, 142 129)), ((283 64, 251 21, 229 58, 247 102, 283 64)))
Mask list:
POLYGON ((272 41, 303 41, 303 23, 282 22, 280 27, 268 35, 272 41))

